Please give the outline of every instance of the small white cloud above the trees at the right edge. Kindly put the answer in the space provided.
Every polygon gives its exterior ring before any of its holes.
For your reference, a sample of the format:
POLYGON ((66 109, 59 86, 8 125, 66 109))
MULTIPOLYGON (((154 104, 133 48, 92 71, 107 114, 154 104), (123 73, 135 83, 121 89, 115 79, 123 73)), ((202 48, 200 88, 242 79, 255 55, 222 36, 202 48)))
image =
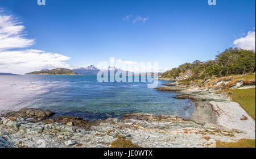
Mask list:
POLYGON ((249 31, 247 36, 234 41, 236 47, 255 51, 255 31, 249 31))

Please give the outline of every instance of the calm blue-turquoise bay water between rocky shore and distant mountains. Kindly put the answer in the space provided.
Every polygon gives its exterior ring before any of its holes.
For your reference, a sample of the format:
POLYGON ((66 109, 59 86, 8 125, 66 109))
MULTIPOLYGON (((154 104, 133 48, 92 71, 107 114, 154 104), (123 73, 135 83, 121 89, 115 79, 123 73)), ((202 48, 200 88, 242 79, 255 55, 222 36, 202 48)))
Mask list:
MULTIPOLYGON (((159 81, 159 86, 167 83, 159 81)), ((24 107, 98 120, 130 112, 191 119, 189 99, 147 87, 148 82, 97 82, 96 76, 0 76, 0 113, 24 107)))

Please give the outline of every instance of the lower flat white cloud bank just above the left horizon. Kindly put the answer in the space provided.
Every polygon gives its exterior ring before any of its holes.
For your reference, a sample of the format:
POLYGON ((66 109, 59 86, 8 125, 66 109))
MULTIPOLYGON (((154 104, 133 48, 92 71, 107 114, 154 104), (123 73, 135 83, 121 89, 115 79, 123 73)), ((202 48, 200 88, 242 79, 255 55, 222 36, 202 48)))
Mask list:
POLYGON ((0 52, 0 72, 25 74, 42 69, 70 68, 66 60, 69 57, 33 49, 0 52))

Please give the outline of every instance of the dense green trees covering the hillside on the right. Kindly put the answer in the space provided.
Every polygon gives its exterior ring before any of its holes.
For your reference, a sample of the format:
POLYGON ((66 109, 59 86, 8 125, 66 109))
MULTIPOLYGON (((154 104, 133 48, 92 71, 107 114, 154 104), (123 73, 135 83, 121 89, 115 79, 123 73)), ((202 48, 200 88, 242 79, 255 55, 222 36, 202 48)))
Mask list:
POLYGON ((214 60, 205 62, 196 60, 192 63, 182 64, 178 68, 164 72, 162 77, 176 78, 179 77, 180 73, 185 73, 187 70, 193 72, 193 76, 189 80, 255 72, 255 51, 253 50, 229 48, 215 57, 214 60))

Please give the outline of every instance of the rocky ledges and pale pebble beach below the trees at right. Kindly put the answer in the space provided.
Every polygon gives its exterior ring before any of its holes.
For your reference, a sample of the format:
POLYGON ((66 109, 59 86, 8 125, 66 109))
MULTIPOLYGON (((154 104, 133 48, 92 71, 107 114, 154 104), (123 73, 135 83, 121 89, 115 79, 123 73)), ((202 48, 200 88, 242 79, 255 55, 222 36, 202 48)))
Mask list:
POLYGON ((202 125, 214 124, 215 127, 243 133, 246 139, 255 139, 255 121, 246 113, 240 104, 232 102, 224 91, 216 88, 226 86, 237 86, 238 81, 244 83, 245 80, 234 80, 233 77, 221 78, 209 81, 207 87, 197 87, 193 85, 184 86, 163 86, 157 90, 176 91, 181 93, 177 99, 191 99, 195 103, 195 111, 192 120, 202 125), (230 85, 230 83, 236 83, 230 85))

